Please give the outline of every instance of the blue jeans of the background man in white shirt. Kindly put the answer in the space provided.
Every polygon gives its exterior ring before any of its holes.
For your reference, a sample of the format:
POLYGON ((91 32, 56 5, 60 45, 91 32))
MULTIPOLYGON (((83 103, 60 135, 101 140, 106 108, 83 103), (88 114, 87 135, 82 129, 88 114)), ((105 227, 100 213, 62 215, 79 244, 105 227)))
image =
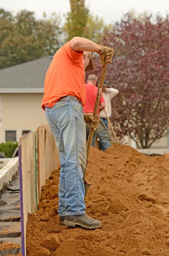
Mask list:
MULTIPOLYGON (((100 118, 103 122, 103 124, 106 126, 106 128, 109 129, 109 122, 106 118, 100 118)), ((97 128, 97 134, 100 140, 100 150, 105 151, 106 148, 111 147, 111 143, 109 140, 109 130, 106 130, 101 122, 99 122, 98 128, 97 128)))

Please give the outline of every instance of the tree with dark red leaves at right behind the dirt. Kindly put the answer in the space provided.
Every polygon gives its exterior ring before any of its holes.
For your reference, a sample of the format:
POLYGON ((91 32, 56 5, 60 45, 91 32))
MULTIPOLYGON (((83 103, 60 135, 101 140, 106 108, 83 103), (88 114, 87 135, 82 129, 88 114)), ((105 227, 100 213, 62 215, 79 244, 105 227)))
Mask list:
MULTIPOLYGON (((115 50, 106 81, 119 90, 112 102, 117 135, 150 148, 169 128, 169 16, 143 21, 127 14, 106 32, 103 45, 115 50)), ((95 67, 99 75, 99 60, 95 67)))

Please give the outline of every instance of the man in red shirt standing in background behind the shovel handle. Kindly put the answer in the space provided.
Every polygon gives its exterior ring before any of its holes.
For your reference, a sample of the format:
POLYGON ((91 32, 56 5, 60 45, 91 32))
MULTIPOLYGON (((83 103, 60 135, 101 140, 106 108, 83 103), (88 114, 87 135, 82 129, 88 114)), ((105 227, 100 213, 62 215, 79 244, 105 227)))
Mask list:
MULTIPOLYGON (((95 108, 95 102, 97 97, 97 81, 98 78, 95 75, 89 75, 87 79, 87 84, 85 84, 86 88, 86 104, 84 105, 83 112, 84 113, 93 113, 95 108)), ((100 106, 97 112, 97 115, 100 111, 102 111, 106 107, 106 102, 103 98, 103 94, 100 97, 100 106)), ((90 125, 86 124, 86 139, 88 140, 90 131, 90 125)), ((92 139, 92 146, 95 147, 97 138, 97 131, 94 131, 93 139, 92 139)))

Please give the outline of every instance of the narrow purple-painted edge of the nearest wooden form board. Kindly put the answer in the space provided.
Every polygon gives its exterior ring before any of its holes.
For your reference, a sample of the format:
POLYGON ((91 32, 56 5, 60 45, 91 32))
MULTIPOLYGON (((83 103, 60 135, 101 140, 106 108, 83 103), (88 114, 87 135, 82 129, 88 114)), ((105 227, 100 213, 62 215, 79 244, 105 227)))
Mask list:
MULTIPOLYGON (((23 135, 25 137, 26 134, 23 135)), ((22 138, 23 138, 22 137, 22 138)), ((24 236, 24 218, 23 218, 23 184, 22 184, 22 138, 18 143, 19 147, 19 178, 20 178, 20 221, 21 221, 21 237, 22 237, 22 255, 26 256, 25 239, 24 236)))

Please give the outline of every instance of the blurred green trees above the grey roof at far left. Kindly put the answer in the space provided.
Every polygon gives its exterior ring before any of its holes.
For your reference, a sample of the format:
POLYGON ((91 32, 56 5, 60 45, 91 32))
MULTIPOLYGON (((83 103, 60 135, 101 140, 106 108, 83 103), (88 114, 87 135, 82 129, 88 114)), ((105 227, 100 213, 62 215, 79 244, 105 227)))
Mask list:
POLYGON ((54 55, 60 47, 60 21, 55 13, 37 20, 34 12, 22 10, 13 16, 0 9, 0 69, 54 55))

